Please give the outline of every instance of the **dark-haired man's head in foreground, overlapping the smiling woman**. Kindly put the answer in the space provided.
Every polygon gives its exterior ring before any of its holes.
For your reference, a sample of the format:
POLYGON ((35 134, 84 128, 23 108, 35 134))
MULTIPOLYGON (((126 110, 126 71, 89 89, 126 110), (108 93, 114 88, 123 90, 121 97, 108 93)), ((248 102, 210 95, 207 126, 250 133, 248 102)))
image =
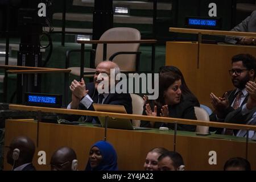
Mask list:
POLYGON ((185 166, 178 152, 168 151, 159 156, 158 168, 160 171, 184 171, 185 166))

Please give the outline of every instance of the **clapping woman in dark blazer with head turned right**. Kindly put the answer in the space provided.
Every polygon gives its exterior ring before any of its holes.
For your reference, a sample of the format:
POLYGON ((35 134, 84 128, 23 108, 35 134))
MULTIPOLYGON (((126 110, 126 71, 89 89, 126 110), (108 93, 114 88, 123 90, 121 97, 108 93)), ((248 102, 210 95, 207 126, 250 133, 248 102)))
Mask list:
MULTIPOLYGON (((144 106, 144 115, 196 119, 194 104, 190 100, 184 100, 181 91, 181 77, 173 72, 162 73, 159 76, 159 97, 154 101, 148 101, 144 106)), ((142 121, 143 127, 163 127, 174 129, 173 123, 150 123, 142 121)), ((193 125, 177 125, 177 130, 195 131, 193 125)))

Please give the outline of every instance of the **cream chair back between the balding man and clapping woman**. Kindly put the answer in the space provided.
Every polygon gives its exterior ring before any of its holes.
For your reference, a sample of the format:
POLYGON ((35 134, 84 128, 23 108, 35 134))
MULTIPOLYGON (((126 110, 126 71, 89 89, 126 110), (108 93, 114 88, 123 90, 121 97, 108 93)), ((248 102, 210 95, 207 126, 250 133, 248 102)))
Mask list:
MULTIPOLYGON (((137 94, 131 93, 131 101, 133 105, 133 114, 141 114, 143 113, 144 100, 141 96, 137 94)), ((140 126, 141 120, 133 119, 133 126, 140 126)))

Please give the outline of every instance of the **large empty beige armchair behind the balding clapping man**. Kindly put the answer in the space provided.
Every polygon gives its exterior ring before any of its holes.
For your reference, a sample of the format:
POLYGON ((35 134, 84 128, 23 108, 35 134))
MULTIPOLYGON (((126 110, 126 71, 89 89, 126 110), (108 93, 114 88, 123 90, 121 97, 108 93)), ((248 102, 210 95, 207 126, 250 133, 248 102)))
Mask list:
MULTIPOLYGON (((100 40, 141 40, 141 33, 137 29, 129 27, 110 28, 109 30, 105 31, 104 34, 101 35, 100 40)), ((138 71, 137 69, 139 66, 136 60, 139 59, 139 54, 141 53, 138 52, 138 49, 139 43, 107 44, 106 60, 113 60, 114 63, 118 64, 121 71, 138 71), (120 54, 114 55, 118 52, 120 54)), ((97 44, 94 67, 96 68, 101 61, 104 61, 103 44, 97 44)), ((69 65, 69 63, 67 63, 67 65, 69 65)), ((71 67, 68 69, 71 69, 71 74, 80 76, 80 67, 71 67)), ((95 72, 94 68, 84 68, 84 75, 92 75, 92 72, 95 72)))

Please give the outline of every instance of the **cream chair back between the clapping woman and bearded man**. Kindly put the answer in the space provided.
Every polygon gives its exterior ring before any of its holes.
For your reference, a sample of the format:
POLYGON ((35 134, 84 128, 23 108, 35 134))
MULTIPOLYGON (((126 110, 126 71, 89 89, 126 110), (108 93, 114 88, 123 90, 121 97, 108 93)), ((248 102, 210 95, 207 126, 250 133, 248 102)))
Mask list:
MULTIPOLYGON (((195 108, 195 114, 197 120, 200 121, 209 121, 209 115, 207 111, 205 111, 201 107, 194 107, 195 108)), ((209 133, 209 126, 196 126, 196 132, 198 133, 209 133)))

